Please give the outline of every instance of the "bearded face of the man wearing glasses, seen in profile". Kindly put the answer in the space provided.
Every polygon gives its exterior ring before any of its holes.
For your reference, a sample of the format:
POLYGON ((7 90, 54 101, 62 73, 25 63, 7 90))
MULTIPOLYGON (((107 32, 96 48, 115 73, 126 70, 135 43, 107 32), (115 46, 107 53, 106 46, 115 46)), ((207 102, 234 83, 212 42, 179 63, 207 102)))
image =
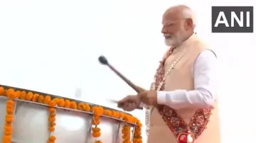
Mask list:
POLYGON ((183 19, 178 18, 178 14, 172 11, 164 13, 163 28, 164 42, 167 46, 178 46, 183 42, 186 30, 183 27, 183 19))

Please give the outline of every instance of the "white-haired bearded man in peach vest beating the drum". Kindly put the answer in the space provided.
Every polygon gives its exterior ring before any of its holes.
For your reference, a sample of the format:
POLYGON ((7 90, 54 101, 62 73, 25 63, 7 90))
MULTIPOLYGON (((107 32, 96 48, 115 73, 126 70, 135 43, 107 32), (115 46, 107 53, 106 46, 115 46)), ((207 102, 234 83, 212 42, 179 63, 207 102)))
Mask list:
POLYGON ((118 105, 127 111, 146 107, 148 143, 220 143, 215 53, 194 34, 196 19, 188 6, 168 8, 162 23, 170 48, 151 90, 138 87, 138 95, 118 105))

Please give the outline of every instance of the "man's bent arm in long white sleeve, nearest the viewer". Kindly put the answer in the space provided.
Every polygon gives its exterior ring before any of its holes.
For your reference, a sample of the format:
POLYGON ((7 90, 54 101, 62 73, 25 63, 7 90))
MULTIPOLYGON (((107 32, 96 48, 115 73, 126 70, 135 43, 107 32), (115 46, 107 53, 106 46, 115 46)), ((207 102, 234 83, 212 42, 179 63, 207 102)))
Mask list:
POLYGON ((217 58, 212 51, 203 51, 193 65, 195 90, 158 91, 157 103, 174 109, 207 108, 215 102, 216 77, 217 58))

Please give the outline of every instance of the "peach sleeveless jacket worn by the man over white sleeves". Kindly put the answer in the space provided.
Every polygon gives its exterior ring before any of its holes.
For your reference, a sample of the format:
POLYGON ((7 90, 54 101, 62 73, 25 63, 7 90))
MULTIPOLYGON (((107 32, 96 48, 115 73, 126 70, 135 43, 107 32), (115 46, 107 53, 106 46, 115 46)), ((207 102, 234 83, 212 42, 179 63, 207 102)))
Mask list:
MULTIPOLYGON (((169 72, 161 90, 194 90, 193 63, 201 52, 208 50, 196 35, 192 35, 169 55, 164 62, 164 72, 184 50, 186 52, 169 72)), ((166 105, 152 108, 149 127, 148 143, 220 143, 217 101, 210 108, 174 110, 166 105), (186 137, 186 140, 181 141, 181 137, 186 137)))

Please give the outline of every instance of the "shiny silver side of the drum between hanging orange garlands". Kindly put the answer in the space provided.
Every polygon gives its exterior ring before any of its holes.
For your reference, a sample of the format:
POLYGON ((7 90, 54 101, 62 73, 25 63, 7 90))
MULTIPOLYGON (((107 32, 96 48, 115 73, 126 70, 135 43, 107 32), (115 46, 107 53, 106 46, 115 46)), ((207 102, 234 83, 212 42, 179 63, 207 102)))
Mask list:
MULTIPOLYGON (((0 137, 2 138, 7 98, 0 96, 0 137)), ((92 113, 79 110, 56 108, 55 131, 48 132, 48 106, 33 102, 16 100, 14 122, 12 123, 12 142, 46 143, 50 135, 56 137, 55 143, 93 143, 92 113)), ((102 142, 122 143, 124 121, 107 116, 100 118, 102 142)), ((131 129, 135 125, 131 124, 131 129)), ((132 140, 132 139, 131 139, 132 140)))

